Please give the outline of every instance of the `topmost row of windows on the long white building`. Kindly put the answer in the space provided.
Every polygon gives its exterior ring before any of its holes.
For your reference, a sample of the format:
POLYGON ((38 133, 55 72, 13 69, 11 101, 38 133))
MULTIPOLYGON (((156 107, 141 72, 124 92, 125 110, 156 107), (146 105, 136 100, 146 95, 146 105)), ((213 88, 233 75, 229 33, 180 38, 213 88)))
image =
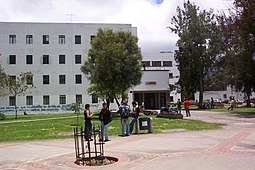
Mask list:
MULTIPOLYGON (((94 38, 94 35, 90 36, 90 41, 94 38)), ((33 44, 33 35, 26 35, 26 44, 33 44)), ((16 35, 9 35, 9 44, 16 44, 17 36, 16 35)), ((43 44, 50 44, 50 36, 43 35, 42 36, 42 43, 43 44)), ((58 44, 65 44, 66 43, 66 36, 65 35, 58 35, 58 44)), ((81 44, 81 35, 74 35, 74 43, 81 44)))

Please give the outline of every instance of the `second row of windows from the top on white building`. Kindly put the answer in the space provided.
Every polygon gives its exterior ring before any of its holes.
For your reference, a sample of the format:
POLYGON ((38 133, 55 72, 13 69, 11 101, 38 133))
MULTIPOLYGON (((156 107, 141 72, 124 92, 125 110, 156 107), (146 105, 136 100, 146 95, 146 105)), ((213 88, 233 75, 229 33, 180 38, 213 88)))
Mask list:
MULTIPOLYGON (((9 55, 9 64, 16 64, 17 63, 17 57, 16 55, 9 55)), ((59 64, 65 64, 66 63, 66 56, 65 55, 59 55, 59 64)), ((75 64, 81 64, 81 55, 75 55, 74 56, 74 62, 75 64)), ((50 56, 49 55, 43 55, 41 59, 42 64, 50 64, 50 56)), ((33 55, 26 55, 26 64, 33 64, 33 55)))

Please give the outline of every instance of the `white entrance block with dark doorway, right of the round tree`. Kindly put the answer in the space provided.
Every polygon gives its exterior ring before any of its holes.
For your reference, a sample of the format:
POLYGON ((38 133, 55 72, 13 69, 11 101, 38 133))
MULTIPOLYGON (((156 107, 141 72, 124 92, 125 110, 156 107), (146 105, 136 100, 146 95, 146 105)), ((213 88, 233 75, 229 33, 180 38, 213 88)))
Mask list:
POLYGON ((130 90, 131 99, 146 109, 159 109, 169 102, 176 102, 180 94, 171 89, 179 79, 173 52, 143 54, 143 76, 141 84, 130 90))

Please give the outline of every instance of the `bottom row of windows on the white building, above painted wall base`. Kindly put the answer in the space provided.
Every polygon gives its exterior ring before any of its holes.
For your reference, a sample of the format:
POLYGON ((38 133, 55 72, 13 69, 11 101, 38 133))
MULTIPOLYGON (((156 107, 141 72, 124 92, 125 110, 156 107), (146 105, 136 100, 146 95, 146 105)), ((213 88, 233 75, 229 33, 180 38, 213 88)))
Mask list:
MULTIPOLYGON (((43 101, 42 104, 43 105, 50 105, 50 96, 49 95, 44 95, 42 96, 43 101)), ((81 94, 77 94, 75 96, 76 98, 76 103, 82 103, 82 95, 81 94)), ((98 97, 96 95, 91 96, 92 98, 92 103, 98 103, 98 97)), ((59 104, 68 104, 66 99, 66 95, 59 95, 59 104)), ((15 106, 16 105, 16 98, 15 96, 9 96, 9 106, 15 106)), ((34 105, 34 97, 33 96, 26 96, 26 105, 27 106, 31 106, 34 105)))

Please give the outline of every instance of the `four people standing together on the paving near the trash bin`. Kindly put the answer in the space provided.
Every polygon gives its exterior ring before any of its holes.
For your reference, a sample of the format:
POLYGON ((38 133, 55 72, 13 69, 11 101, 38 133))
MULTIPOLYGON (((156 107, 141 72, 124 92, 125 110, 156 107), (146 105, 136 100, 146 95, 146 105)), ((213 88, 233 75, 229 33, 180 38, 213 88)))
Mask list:
MULTIPOLYGON (((136 101, 132 102, 133 110, 131 111, 130 106, 128 105, 127 99, 124 99, 121 106, 119 107, 120 112, 120 119, 121 119, 121 136, 130 136, 132 134, 134 125, 137 123, 138 116, 140 113, 139 105, 136 101), (129 117, 132 117, 131 122, 129 123, 129 117)), ((90 105, 85 105, 84 111, 84 121, 85 121, 85 140, 92 140, 91 139, 91 132, 92 132, 92 123, 91 117, 93 114, 90 112, 90 105)), ((107 103, 103 103, 102 109, 99 113, 99 120, 100 120, 100 130, 101 135, 99 136, 99 141, 109 141, 109 134, 108 134, 108 124, 112 121, 112 114, 108 109, 107 103)))

